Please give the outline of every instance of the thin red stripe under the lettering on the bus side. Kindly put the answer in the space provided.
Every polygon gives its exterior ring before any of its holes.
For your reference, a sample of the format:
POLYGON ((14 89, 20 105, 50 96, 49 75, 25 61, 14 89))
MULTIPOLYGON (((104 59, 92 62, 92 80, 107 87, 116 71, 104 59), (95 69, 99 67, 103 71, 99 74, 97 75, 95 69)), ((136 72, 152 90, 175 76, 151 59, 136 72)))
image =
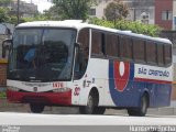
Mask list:
POLYGON ((146 79, 146 78, 134 78, 135 81, 147 81, 147 82, 154 82, 154 84, 172 84, 172 81, 168 80, 156 80, 156 79, 146 79))

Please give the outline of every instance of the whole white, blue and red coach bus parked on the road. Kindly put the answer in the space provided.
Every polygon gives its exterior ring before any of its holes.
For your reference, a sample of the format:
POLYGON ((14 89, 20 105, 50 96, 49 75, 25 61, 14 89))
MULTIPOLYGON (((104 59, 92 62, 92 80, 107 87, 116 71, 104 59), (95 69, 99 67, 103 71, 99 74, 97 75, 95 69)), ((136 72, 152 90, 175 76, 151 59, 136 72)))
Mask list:
POLYGON ((66 106, 81 114, 127 109, 143 117, 147 108, 170 105, 173 44, 166 38, 65 20, 19 24, 7 42, 7 98, 34 113, 66 106))

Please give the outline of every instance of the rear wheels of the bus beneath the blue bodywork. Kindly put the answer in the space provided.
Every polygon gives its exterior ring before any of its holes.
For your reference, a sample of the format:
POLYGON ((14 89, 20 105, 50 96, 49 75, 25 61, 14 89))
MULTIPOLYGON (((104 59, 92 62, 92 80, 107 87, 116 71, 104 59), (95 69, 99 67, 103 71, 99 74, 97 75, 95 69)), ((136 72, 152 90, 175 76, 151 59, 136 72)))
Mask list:
POLYGON ((138 116, 138 117, 144 117, 147 112, 148 108, 148 99, 146 95, 143 95, 140 99, 140 106, 134 109, 128 109, 129 116, 138 116))

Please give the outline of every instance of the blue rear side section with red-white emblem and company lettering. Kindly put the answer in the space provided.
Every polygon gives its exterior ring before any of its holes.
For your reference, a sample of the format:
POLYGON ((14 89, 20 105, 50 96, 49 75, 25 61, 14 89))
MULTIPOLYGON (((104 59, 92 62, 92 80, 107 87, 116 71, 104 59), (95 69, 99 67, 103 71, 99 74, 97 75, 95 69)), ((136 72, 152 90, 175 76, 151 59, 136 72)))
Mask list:
POLYGON ((150 96, 150 107, 169 106, 172 77, 172 66, 169 68, 158 68, 110 61, 109 88, 112 100, 118 107, 138 107, 140 97, 145 91, 150 96), (144 76, 140 75, 140 67, 146 69, 143 73, 144 76), (161 74, 151 74, 151 70, 161 74))

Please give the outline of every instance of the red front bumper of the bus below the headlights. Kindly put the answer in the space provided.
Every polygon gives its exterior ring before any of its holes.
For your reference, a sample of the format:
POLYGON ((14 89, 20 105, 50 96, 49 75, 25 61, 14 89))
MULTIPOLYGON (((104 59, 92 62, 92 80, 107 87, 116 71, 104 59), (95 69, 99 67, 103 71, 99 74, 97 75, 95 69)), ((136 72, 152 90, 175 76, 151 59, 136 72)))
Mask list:
POLYGON ((7 97, 10 102, 16 103, 72 105, 72 90, 66 92, 21 92, 8 89, 7 97))

